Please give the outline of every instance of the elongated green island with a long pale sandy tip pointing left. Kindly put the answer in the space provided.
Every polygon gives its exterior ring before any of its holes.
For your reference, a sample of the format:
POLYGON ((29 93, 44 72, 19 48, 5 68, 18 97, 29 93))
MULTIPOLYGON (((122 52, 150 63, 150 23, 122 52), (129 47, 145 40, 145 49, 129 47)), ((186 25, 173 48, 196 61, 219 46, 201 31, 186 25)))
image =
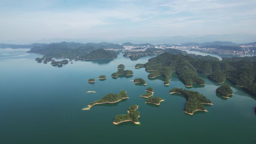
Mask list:
POLYGON ((128 98, 126 91, 121 91, 119 94, 107 94, 103 96, 103 98, 98 99, 97 101, 91 102, 87 108, 83 108, 82 110, 89 110, 91 107, 97 104, 105 104, 105 103, 115 103, 119 102, 122 99, 128 98))

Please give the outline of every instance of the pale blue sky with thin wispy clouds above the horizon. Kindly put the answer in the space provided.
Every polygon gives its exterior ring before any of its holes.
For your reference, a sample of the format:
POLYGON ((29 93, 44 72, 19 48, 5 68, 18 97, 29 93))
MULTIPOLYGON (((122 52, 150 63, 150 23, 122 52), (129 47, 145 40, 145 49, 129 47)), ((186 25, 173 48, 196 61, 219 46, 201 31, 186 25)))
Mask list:
POLYGON ((256 0, 0 0, 0 40, 256 34, 256 0))

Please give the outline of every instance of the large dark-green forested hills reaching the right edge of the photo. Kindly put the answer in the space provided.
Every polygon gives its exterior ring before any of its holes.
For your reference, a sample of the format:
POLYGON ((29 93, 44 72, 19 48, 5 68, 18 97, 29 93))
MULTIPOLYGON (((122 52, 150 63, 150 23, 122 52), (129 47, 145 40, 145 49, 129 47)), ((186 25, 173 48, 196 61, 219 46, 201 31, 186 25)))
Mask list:
POLYGON ((256 56, 224 58, 219 61, 212 56, 163 53, 149 59, 143 65, 146 66, 146 71, 152 71, 149 74, 150 77, 158 75, 167 77, 176 71, 187 86, 191 86, 192 83, 204 84, 204 80, 197 75, 197 72, 209 74, 208 77, 218 83, 223 83, 225 80, 238 86, 256 83, 256 56))

